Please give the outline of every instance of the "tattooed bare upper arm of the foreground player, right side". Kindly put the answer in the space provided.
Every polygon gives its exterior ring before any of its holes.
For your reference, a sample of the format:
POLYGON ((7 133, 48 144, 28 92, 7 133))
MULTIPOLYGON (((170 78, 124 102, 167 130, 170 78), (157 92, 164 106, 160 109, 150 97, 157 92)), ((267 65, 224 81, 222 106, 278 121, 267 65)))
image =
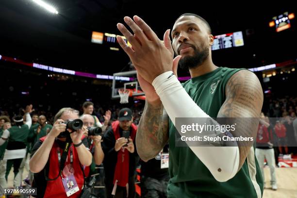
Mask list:
MULTIPOLYGON (((226 85, 226 100, 217 117, 234 117, 233 121, 237 124, 236 130, 231 132, 234 137, 242 135, 255 139, 259 123, 250 118, 260 117, 262 105, 263 90, 259 79, 248 70, 240 70, 229 79, 226 85)), ((250 146, 240 146, 239 142, 238 145, 239 170, 247 158, 250 146)))

